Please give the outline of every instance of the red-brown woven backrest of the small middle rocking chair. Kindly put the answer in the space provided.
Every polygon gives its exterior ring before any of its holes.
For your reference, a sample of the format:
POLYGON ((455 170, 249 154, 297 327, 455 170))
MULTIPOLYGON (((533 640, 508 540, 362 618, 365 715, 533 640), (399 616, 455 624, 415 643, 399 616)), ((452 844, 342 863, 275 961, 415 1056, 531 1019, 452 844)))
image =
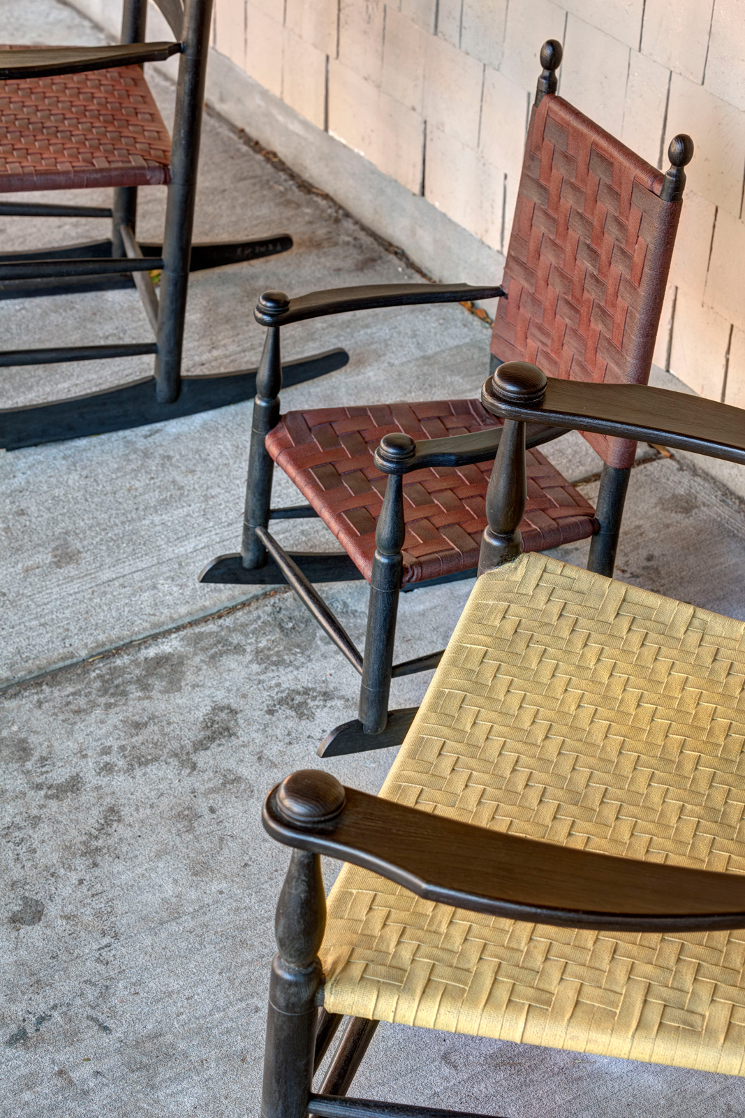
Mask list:
MULTIPOLYGON (((533 111, 491 351, 551 377, 646 383, 680 202, 663 176, 561 97, 533 111)), ((612 466, 636 444, 585 435, 612 466)))

